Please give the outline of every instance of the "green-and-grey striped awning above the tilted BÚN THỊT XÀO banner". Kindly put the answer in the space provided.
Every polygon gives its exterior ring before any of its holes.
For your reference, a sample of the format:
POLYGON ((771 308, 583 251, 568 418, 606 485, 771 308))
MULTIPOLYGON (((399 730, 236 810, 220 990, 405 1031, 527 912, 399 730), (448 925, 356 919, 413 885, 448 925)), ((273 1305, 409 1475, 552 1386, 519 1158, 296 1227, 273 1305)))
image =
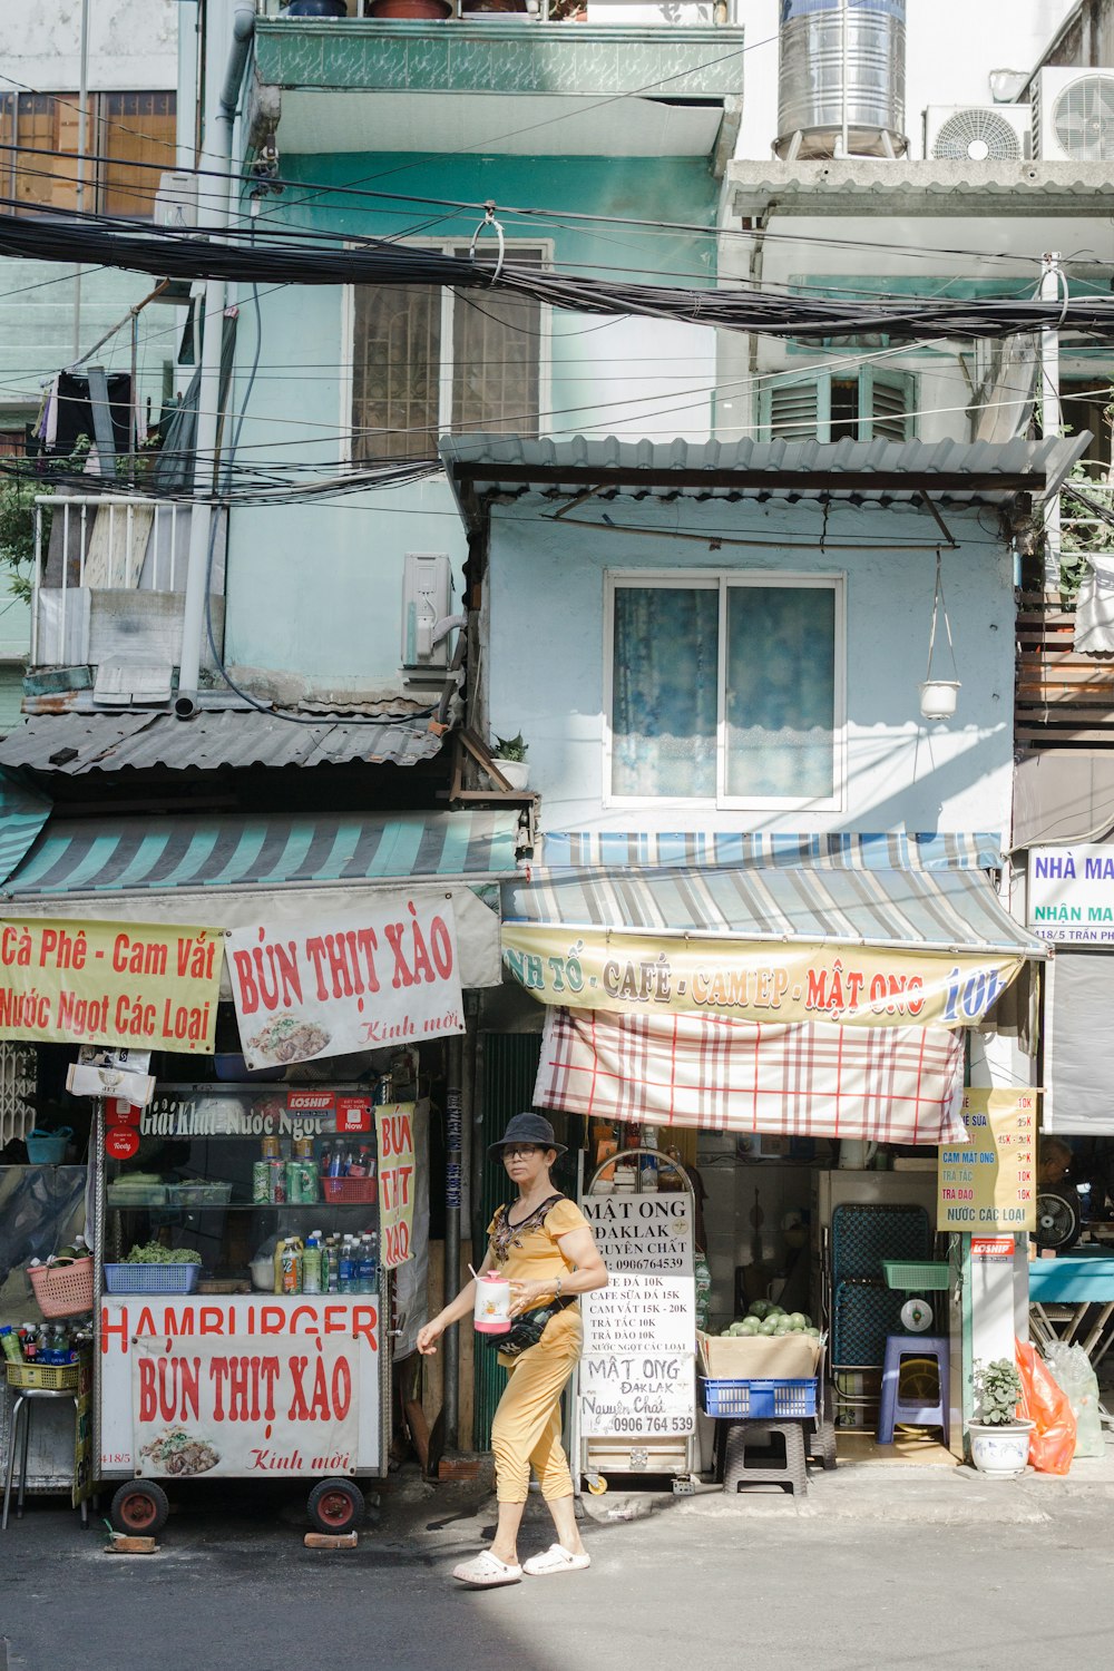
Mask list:
MULTIPOLYGON (((516 810, 53 819, 10 901, 514 874, 516 810)), ((154 904, 150 907, 154 911, 154 904)))

